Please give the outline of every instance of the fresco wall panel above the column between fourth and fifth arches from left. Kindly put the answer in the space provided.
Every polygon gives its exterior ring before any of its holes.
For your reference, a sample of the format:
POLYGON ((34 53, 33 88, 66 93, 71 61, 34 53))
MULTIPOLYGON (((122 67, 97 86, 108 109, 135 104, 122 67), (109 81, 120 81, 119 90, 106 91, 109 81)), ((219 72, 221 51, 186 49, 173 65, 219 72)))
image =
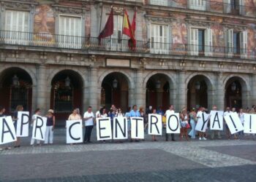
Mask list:
POLYGON ((186 15, 173 15, 176 21, 172 24, 173 49, 182 50, 187 44, 186 15))

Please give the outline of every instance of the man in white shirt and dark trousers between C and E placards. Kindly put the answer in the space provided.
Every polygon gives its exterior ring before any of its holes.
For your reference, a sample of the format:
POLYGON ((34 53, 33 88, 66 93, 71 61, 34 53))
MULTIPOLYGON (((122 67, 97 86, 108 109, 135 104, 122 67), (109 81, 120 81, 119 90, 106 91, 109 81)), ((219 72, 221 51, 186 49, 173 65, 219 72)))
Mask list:
POLYGON ((91 111, 91 106, 89 106, 88 110, 83 114, 83 120, 86 126, 83 143, 91 143, 91 130, 94 128, 94 118, 94 113, 91 111))

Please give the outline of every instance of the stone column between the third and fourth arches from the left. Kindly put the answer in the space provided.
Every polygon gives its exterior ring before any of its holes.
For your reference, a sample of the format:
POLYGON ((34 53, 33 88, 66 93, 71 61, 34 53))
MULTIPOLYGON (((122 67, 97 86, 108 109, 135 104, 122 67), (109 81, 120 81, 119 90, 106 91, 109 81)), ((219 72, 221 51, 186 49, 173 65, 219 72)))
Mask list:
POLYGON ((143 70, 139 69, 136 74, 135 78, 135 103, 138 108, 140 106, 143 106, 145 108, 146 106, 146 89, 143 88, 143 70))

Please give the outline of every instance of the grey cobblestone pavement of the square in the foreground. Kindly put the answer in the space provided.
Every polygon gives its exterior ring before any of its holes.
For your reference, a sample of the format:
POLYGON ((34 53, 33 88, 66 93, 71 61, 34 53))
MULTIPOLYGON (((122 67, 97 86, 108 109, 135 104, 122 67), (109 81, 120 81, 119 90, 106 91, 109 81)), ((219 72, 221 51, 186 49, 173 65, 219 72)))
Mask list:
MULTIPOLYGON (((178 138, 178 137, 176 137, 178 138)), ((0 151, 0 181, 256 181, 256 142, 243 140, 66 145, 0 151)))

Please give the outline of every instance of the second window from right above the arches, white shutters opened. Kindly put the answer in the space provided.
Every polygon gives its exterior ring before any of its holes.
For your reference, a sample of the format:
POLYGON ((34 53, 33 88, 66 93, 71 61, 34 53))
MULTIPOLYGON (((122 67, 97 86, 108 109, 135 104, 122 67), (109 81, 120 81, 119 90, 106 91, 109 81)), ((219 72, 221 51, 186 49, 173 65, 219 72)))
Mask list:
POLYGON ((189 28, 188 48, 190 55, 206 55, 211 56, 212 47, 212 31, 211 28, 198 29, 189 28))

